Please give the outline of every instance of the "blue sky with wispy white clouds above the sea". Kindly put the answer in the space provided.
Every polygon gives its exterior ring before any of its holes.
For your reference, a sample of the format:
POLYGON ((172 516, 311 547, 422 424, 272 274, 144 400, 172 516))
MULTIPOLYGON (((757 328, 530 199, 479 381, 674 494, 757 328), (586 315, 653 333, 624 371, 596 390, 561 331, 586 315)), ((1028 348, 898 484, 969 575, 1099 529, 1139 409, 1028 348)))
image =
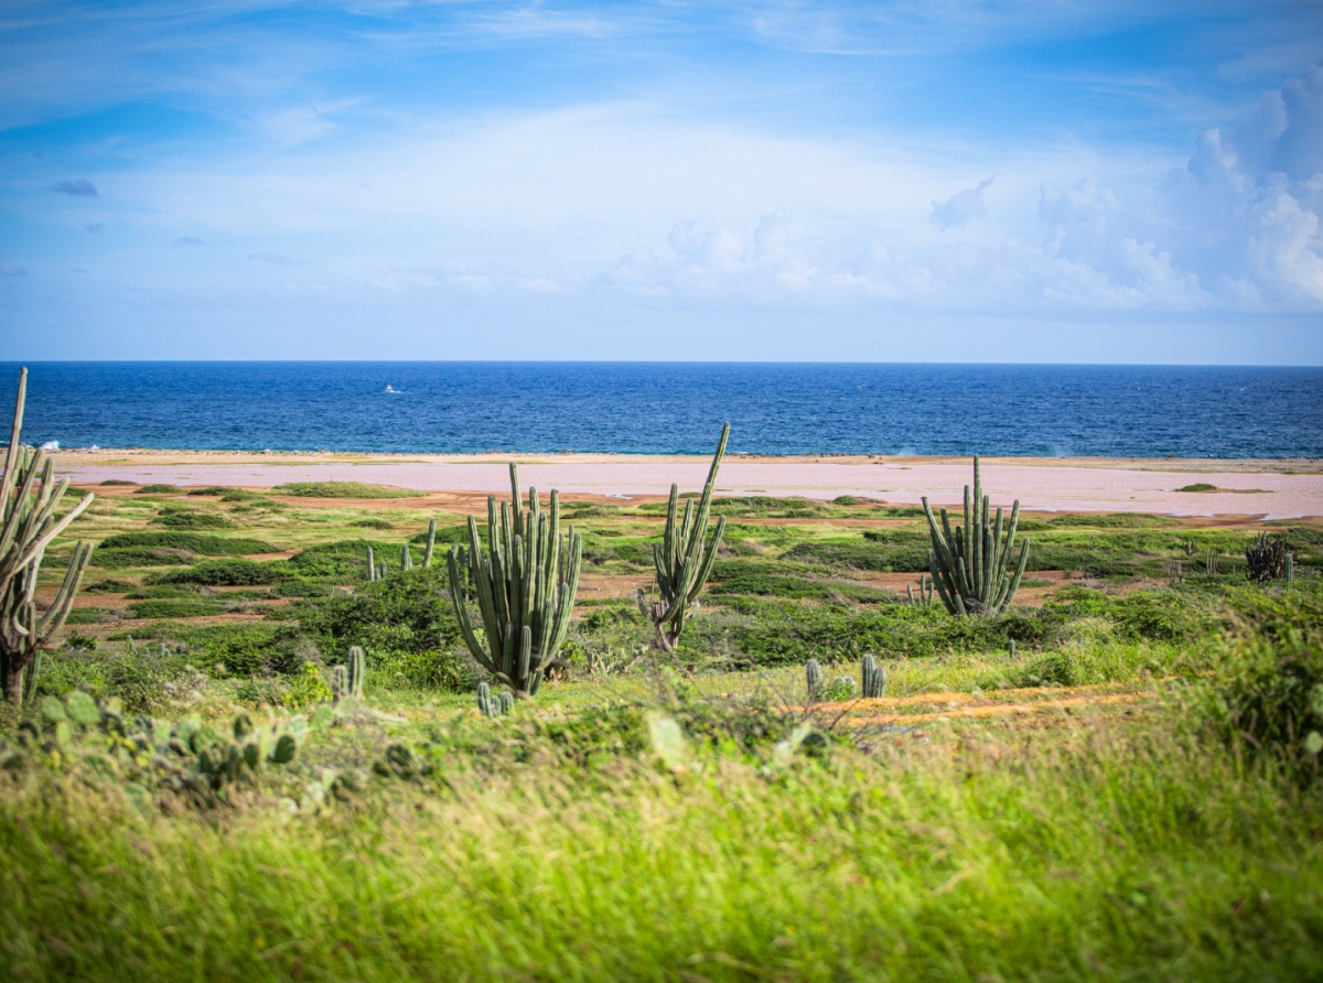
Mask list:
POLYGON ((0 360, 1319 365, 1320 214, 1320 0, 0 5, 0 360))

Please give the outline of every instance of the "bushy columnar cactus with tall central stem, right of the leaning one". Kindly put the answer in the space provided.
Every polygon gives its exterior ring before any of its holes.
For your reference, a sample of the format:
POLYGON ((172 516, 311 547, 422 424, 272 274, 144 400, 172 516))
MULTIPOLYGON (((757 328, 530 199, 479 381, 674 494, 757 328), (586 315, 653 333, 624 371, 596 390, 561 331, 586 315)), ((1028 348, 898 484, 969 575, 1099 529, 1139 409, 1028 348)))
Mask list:
POLYGON ((933 546, 927 550, 927 565, 933 583, 942 598, 946 610, 955 615, 996 615, 1005 611, 1015 591, 1020 587, 1025 564, 1029 562, 1028 537, 1020 544, 1020 557, 1015 573, 1009 573, 1011 550, 1015 546, 1015 529, 1020 521, 1020 500, 1011 507, 1011 521, 1002 537, 1002 509, 996 511, 996 524, 990 521, 990 501, 983 493, 979 476, 979 459, 974 458, 974 496, 970 486, 964 486, 964 525, 955 527, 942 509, 942 525, 938 528, 933 509, 923 497, 923 515, 933 546))

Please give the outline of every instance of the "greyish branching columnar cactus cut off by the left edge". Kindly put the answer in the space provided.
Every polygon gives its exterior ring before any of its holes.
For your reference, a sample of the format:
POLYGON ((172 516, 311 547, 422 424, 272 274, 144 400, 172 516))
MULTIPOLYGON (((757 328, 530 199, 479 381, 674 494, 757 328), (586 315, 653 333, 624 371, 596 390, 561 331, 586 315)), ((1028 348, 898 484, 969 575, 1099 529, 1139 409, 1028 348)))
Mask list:
POLYGON ((64 582, 46 613, 37 617, 37 574, 46 546, 91 504, 87 495, 62 517, 56 517, 69 490, 69 479, 54 482, 54 462, 40 450, 24 447, 22 407, 28 397, 28 369, 19 373, 19 398, 13 407, 9 452, 0 479, 0 680, 4 696, 22 704, 24 671, 37 654, 52 647, 73 607, 78 583, 91 558, 91 545, 78 542, 64 582))

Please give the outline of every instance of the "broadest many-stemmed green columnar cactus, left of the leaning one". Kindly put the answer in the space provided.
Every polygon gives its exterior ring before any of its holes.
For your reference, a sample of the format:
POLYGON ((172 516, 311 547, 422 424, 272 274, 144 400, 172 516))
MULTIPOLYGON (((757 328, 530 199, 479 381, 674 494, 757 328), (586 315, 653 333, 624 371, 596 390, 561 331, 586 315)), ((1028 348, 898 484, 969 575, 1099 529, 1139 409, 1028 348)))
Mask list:
POLYGON ((487 497, 487 556, 483 556, 478 521, 468 516, 468 570, 460 570, 460 553, 446 557, 450 599, 468 651, 497 681, 516 693, 536 696, 546 669, 565 642, 578 590, 583 540, 570 527, 561 536, 561 501, 552 492, 550 509, 542 511, 537 490, 528 492, 528 509, 520 505, 519 470, 509 466, 511 501, 487 497), (476 597, 479 639, 464 603, 466 583, 476 597))

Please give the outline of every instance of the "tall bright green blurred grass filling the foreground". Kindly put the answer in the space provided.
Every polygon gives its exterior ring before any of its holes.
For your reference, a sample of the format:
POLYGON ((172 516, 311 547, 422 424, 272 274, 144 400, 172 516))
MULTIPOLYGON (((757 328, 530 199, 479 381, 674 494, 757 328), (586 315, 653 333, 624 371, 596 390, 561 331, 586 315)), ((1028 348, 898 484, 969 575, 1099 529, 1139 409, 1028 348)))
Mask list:
POLYGON ((1155 724, 767 771, 384 785, 323 815, 0 796, 12 979, 1323 974, 1316 799, 1155 724))

